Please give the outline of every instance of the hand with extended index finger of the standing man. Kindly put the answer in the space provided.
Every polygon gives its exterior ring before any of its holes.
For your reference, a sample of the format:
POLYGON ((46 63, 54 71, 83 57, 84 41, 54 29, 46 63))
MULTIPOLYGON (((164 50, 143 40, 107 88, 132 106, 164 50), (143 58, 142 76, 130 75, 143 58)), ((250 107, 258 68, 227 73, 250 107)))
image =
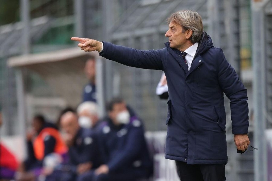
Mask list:
POLYGON ((81 48, 82 50, 84 50, 84 52, 92 52, 92 51, 100 52, 102 49, 102 42, 99 42, 97 40, 92 40, 89 38, 78 38, 78 37, 72 37, 71 40, 78 41, 79 44, 77 46, 81 48))

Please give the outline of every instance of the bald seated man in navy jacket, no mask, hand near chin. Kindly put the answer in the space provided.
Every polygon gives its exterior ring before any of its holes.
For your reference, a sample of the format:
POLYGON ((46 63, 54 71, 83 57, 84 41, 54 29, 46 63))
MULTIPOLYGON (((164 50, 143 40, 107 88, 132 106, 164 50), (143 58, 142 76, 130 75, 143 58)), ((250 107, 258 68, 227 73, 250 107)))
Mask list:
POLYGON ((78 175, 100 165, 97 138, 94 131, 79 126, 75 112, 67 112, 61 116, 60 128, 69 148, 69 162, 57 167, 46 180, 73 181, 78 175))

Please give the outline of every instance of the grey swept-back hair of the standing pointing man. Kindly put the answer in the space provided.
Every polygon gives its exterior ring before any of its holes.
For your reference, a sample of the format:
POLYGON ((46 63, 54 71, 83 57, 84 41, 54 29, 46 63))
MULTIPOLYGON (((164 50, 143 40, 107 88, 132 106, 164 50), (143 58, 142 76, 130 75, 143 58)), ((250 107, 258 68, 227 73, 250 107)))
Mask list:
POLYGON ((177 11, 168 18, 168 24, 170 22, 179 24, 183 27, 183 33, 190 29, 193 31, 191 36, 192 43, 199 42, 203 33, 202 18, 196 11, 181 10, 177 11))

